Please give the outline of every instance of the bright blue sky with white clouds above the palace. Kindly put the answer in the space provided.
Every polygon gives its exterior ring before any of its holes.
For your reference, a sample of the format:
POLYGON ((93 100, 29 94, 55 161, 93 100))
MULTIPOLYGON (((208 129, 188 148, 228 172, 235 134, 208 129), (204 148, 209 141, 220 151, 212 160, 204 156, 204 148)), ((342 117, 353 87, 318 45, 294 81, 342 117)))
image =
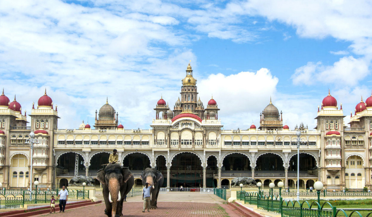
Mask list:
POLYGON ((126 129, 148 129, 191 60, 225 129, 258 126, 270 96, 291 129, 313 128, 328 88, 348 123, 371 95, 371 11, 341 0, 0 1, 1 84, 23 111, 47 88, 60 128, 92 125, 108 97, 126 129))

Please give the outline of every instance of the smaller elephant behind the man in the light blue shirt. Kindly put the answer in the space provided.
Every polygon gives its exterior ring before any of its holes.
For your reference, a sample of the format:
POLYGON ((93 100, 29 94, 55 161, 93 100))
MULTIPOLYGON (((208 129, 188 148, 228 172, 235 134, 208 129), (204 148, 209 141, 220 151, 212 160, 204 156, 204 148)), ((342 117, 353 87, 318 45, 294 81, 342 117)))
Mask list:
POLYGON ((146 182, 154 186, 154 188, 151 188, 150 209, 158 208, 157 202, 159 191, 164 182, 163 174, 161 174, 161 172, 157 171, 155 168, 146 168, 141 173, 141 179, 143 186, 145 186, 146 182))

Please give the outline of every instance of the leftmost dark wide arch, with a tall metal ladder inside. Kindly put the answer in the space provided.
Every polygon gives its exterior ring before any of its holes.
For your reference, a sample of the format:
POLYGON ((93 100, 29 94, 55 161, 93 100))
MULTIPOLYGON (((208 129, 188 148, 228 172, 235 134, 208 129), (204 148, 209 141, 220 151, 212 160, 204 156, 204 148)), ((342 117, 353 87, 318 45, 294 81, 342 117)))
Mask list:
POLYGON ((68 152, 62 154, 57 159, 57 176, 58 175, 74 175, 75 172, 75 161, 76 161, 76 155, 78 155, 79 161, 78 161, 78 172, 79 175, 85 175, 85 166, 84 166, 84 159, 83 156, 81 156, 78 153, 74 152, 68 152))

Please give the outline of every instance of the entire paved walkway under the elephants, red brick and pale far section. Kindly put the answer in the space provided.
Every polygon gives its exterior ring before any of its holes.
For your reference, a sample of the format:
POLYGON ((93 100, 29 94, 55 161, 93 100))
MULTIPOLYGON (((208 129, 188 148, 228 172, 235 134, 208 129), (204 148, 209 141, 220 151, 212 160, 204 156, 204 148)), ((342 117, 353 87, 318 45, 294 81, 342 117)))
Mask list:
MULTIPOLYGON (((97 192, 97 198, 102 200, 102 194, 97 192)), ((142 213, 142 196, 129 197, 124 202, 124 216, 172 216, 172 217, 241 217, 239 211, 224 204, 226 201, 213 194, 200 194, 199 192, 168 192, 160 194, 158 208, 142 213)), ((94 204, 86 207, 65 210, 65 213, 43 214, 38 216, 91 216, 107 217, 103 212, 105 203, 94 204)))

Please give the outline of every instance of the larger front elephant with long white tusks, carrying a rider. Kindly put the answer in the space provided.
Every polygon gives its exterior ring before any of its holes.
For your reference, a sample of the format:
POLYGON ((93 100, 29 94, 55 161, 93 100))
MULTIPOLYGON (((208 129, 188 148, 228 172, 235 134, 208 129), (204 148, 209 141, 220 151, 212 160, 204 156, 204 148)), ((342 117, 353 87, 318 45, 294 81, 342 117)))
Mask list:
POLYGON ((105 169, 97 172, 97 180, 102 183, 105 214, 108 217, 122 216, 124 197, 134 185, 134 177, 129 168, 118 163, 109 163, 105 169))

